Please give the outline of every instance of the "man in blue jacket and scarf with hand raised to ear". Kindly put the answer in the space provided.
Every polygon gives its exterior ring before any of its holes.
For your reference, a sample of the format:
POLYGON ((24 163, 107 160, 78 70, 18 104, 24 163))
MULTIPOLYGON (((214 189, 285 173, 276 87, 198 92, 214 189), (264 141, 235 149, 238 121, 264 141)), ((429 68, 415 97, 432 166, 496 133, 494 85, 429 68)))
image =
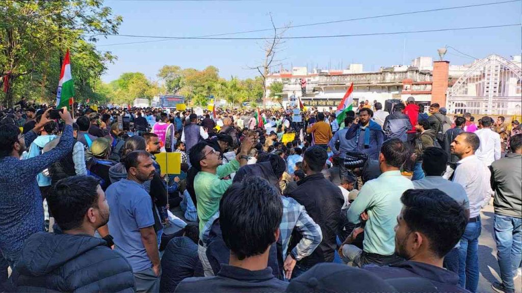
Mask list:
POLYGON ((359 123, 354 123, 346 132, 346 139, 355 137, 357 150, 368 154, 372 160, 378 160, 381 145, 384 141, 384 132, 371 118, 373 111, 369 108, 362 108, 359 112, 359 123))

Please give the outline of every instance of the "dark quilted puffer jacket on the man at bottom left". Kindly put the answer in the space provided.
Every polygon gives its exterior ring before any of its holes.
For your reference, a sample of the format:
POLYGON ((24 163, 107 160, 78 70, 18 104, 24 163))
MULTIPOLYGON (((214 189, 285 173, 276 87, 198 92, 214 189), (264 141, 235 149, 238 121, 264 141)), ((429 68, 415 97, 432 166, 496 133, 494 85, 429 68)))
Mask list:
POLYGON ((134 292, 131 265, 89 235, 39 232, 26 240, 10 278, 13 292, 134 292))

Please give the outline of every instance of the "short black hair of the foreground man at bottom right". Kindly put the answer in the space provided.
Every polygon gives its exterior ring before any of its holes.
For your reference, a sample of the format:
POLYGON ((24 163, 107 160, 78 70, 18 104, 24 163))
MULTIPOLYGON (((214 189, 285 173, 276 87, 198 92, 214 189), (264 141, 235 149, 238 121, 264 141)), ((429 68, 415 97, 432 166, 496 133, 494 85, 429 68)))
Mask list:
POLYGON ((438 189, 408 189, 400 198, 402 218, 411 231, 430 240, 430 250, 443 258, 464 234, 468 218, 462 206, 438 189))

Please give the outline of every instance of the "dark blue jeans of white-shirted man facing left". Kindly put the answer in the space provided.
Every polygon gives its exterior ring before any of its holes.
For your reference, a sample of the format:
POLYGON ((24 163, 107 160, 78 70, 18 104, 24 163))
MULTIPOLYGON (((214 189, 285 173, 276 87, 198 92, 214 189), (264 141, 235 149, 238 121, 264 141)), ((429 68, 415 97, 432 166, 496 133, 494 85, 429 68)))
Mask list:
POLYGON ((471 292, 477 291, 479 285, 479 236, 482 231, 480 216, 477 222, 466 226, 460 239, 459 248, 459 286, 471 292))

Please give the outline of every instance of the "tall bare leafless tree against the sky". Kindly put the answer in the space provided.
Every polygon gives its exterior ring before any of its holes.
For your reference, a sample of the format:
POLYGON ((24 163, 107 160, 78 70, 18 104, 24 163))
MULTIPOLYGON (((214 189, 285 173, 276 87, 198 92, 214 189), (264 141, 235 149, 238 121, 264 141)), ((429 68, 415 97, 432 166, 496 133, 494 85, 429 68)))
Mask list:
POLYGON ((272 23, 272 28, 274 28, 273 35, 270 38, 265 39, 262 50, 265 53, 263 64, 255 67, 248 67, 248 69, 255 69, 259 72, 261 79, 263 81, 263 107, 266 108, 266 100, 267 100, 267 85, 266 79, 270 74, 270 68, 281 66, 281 62, 283 59, 275 59, 278 52, 282 50, 282 46, 286 41, 282 39, 283 34, 288 30, 291 25, 291 22, 284 25, 282 28, 277 28, 274 23, 274 18, 272 18, 272 14, 268 14, 270 16, 270 22, 272 23))

